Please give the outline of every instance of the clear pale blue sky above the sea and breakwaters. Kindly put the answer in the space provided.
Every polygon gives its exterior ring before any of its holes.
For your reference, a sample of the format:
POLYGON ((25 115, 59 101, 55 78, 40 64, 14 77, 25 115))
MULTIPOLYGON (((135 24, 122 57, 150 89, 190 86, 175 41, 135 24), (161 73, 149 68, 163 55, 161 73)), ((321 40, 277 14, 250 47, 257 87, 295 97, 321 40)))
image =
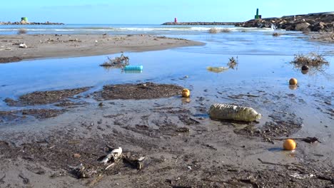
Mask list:
POLYGON ((166 21, 248 21, 334 11, 334 0, 0 0, 0 21, 160 24, 166 21))

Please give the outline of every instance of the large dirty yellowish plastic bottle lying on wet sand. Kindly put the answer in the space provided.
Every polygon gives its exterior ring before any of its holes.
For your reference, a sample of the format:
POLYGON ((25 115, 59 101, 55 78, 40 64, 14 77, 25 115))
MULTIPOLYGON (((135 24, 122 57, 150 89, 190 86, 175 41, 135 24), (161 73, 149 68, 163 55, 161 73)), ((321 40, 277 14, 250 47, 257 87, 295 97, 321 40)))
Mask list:
POLYGON ((209 115, 212 119, 216 120, 237 120, 244 122, 252 122, 262 117, 260 113, 257 113, 250 107, 219 103, 211 105, 209 115))

